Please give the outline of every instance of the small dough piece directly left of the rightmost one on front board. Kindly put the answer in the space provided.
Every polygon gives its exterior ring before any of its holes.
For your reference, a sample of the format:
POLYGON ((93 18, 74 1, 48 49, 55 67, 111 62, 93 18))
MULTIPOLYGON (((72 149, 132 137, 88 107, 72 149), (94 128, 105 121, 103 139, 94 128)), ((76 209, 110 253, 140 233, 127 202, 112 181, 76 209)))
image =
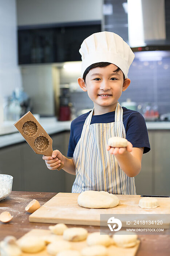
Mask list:
POLYGON ((88 235, 87 244, 91 245, 111 245, 112 240, 109 235, 100 235, 100 232, 94 232, 88 235))

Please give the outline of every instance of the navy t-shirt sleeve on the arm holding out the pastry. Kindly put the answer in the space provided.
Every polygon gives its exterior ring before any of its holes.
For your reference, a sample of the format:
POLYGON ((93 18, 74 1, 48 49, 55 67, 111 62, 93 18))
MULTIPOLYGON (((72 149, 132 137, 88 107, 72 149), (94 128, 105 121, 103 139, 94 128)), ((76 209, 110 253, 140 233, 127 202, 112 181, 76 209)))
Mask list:
POLYGON ((129 117, 126 139, 133 144, 133 147, 144 147, 143 154, 150 151, 145 119, 139 112, 135 112, 129 117))

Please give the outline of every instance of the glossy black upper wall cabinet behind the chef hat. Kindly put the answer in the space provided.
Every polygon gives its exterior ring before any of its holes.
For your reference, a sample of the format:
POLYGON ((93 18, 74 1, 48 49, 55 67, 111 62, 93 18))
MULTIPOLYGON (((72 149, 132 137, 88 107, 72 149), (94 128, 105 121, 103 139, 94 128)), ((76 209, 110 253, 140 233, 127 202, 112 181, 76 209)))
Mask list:
POLYGON ((80 61, 80 45, 101 31, 101 21, 18 29, 19 64, 80 61))

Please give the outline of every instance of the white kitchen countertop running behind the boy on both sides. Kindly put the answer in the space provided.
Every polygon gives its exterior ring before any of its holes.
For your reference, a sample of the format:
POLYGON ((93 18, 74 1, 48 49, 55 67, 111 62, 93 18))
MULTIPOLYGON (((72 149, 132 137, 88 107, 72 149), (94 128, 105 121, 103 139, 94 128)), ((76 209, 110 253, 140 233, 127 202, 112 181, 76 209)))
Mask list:
MULTIPOLYGON (((50 117, 40 118, 39 123, 49 135, 70 131, 71 125, 71 121, 56 121, 55 118, 50 117)), ((146 126, 148 130, 170 130, 170 122, 146 122, 146 126)), ((0 135, 0 148, 25 141, 15 127, 13 132, 15 133, 0 135)))

